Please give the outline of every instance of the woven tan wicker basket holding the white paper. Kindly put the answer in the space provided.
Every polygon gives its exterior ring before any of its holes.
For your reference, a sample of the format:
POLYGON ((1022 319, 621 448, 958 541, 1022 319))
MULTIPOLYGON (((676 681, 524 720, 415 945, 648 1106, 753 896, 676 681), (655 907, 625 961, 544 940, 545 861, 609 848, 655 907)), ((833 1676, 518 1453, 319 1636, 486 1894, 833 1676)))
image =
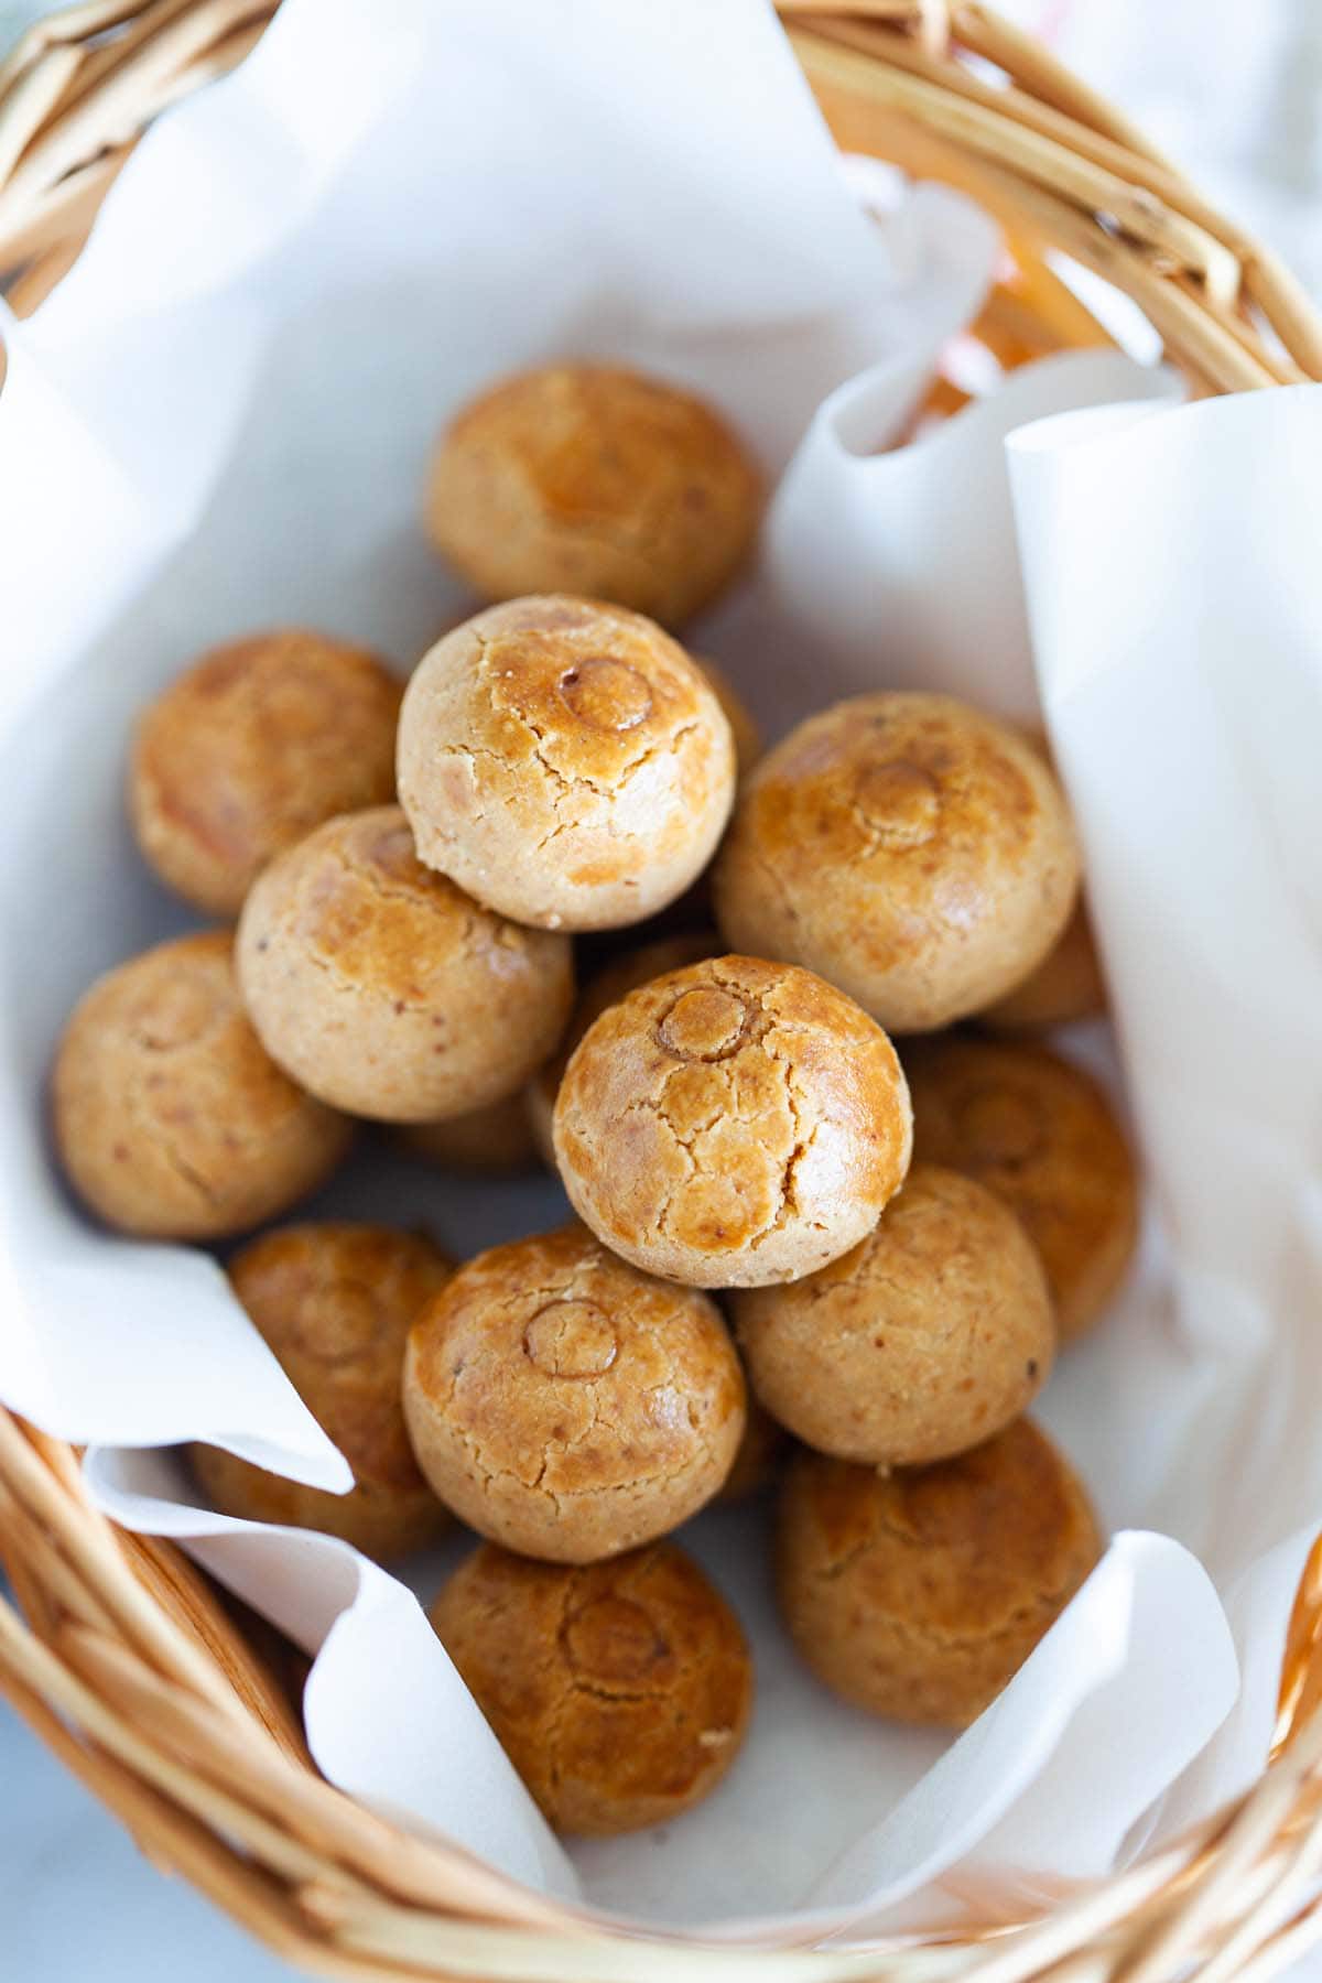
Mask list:
MULTIPOLYGON (((18 313, 73 264, 145 123, 232 67, 272 12, 85 0, 20 42, 0 67, 0 284, 18 313)), ((1045 260, 1060 250, 1134 297, 1195 393, 1322 379, 1322 319, 1288 272, 989 8, 781 12, 842 147, 947 180, 1003 224, 1015 268, 977 325, 1003 365, 1106 341, 1045 260)), ((1320 1551, 1294 1608, 1276 1751, 1237 1807, 1033 1920, 862 1953, 747 1953, 603 1929, 331 1789, 254 1620, 172 1547, 113 1529, 75 1454, 2 1410, 0 1549, 26 1614, 0 1602, 0 1688, 18 1713, 157 1864, 313 1975, 1225 1983, 1322 1939, 1320 1551)))

